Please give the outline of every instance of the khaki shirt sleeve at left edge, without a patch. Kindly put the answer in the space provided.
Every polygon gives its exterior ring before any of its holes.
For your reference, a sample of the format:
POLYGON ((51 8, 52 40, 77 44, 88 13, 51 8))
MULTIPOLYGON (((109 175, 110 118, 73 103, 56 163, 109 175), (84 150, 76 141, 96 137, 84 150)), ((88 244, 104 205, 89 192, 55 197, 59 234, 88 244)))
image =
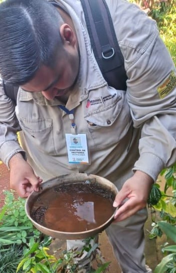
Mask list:
POLYGON ((9 167, 9 160, 17 153, 25 151, 21 148, 17 132, 20 126, 15 114, 15 103, 4 91, 3 81, 0 78, 0 159, 9 167))

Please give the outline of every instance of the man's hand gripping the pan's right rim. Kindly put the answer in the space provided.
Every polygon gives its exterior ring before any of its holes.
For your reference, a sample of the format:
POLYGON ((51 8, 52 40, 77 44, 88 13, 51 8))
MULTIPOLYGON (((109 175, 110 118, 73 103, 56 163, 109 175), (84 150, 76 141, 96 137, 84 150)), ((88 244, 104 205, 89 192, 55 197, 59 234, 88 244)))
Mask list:
POLYGON ((115 222, 128 218, 146 206, 152 184, 152 178, 140 171, 126 180, 113 203, 114 207, 119 207, 114 216, 115 222))

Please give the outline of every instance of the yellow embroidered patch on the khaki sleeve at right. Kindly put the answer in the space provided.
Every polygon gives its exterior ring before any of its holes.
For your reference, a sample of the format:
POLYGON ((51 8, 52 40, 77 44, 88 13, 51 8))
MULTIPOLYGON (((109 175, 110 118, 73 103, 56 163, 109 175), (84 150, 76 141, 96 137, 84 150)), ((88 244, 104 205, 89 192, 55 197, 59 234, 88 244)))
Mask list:
POLYGON ((171 71, 168 78, 157 88, 159 97, 164 98, 176 86, 176 75, 171 71))

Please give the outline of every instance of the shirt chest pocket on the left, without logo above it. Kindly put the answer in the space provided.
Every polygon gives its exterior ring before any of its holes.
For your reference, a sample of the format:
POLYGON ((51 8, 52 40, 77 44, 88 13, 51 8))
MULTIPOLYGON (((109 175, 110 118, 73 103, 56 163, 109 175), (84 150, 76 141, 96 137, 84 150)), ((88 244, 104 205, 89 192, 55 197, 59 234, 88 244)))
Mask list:
POLYGON ((56 155, 53 138, 53 124, 51 118, 19 118, 20 126, 25 134, 25 138, 34 149, 49 154, 56 155))

